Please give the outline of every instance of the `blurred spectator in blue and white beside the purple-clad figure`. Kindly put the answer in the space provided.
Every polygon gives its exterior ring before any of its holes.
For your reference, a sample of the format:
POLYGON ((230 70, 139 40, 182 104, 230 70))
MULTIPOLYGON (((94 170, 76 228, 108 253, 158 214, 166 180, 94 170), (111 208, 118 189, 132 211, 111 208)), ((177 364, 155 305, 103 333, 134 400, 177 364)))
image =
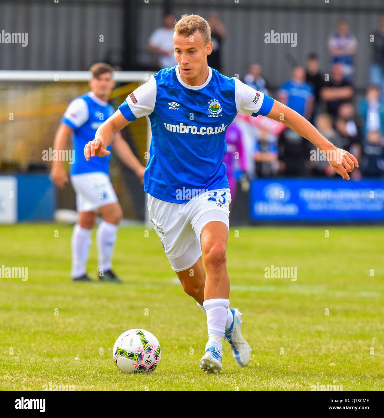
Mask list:
POLYGON ((278 171, 278 152, 276 138, 260 126, 257 133, 253 158, 257 177, 273 177, 278 171))

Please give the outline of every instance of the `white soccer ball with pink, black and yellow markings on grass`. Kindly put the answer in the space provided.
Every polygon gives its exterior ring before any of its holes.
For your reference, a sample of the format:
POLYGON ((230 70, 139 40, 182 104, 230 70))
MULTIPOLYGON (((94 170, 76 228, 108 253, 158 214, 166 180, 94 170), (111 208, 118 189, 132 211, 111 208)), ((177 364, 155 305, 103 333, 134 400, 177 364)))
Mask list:
POLYGON ((113 359, 124 373, 150 373, 158 366, 161 349, 158 339, 145 329, 123 332, 113 346, 113 359))

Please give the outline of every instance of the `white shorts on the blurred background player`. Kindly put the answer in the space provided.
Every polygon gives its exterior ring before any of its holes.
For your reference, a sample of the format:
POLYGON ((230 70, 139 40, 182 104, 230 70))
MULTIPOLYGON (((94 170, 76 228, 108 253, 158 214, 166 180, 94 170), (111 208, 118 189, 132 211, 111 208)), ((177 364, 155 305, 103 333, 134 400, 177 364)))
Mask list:
POLYGON ((117 202, 112 183, 105 173, 74 174, 71 183, 76 192, 77 212, 91 212, 117 202))

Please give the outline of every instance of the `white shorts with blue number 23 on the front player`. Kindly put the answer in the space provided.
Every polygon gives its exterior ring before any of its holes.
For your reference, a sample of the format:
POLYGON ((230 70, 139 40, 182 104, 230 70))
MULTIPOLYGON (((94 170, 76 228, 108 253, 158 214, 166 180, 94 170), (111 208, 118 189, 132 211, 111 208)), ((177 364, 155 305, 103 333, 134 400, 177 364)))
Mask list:
POLYGON ((200 235, 211 221, 229 230, 229 189, 210 190, 186 203, 166 202, 148 194, 150 221, 163 244, 173 270, 187 270, 201 257, 200 235))

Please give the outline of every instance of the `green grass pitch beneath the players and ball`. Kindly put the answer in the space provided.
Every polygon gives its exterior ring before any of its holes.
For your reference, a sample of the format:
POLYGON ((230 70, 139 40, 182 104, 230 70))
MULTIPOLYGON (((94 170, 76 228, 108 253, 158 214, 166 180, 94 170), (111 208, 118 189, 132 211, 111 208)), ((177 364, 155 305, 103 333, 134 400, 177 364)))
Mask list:
MULTIPOLYGON (((199 370, 206 317, 148 231, 119 229, 114 269, 125 284, 117 285, 71 282, 72 227, 0 227, 0 268, 28 267, 27 281, 0 279, 1 389, 384 389, 383 227, 231 228, 230 301, 254 351, 241 369, 223 342, 219 375, 199 370), (271 265, 297 267, 297 280, 264 278, 271 265), (159 339, 161 361, 151 375, 127 375, 112 347, 140 327, 159 339)), ((94 242, 88 270, 96 277, 94 242)))

